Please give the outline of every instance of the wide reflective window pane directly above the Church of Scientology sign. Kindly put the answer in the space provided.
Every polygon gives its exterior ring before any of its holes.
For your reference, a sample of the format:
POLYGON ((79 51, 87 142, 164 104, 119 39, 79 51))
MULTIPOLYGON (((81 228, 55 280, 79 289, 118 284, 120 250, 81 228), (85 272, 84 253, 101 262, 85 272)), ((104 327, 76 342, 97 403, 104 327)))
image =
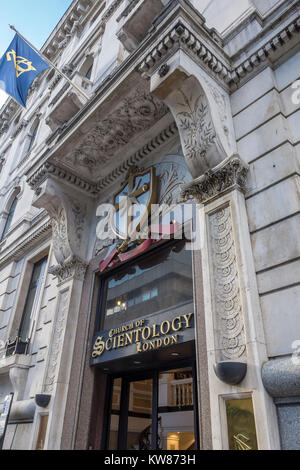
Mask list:
POLYGON ((191 252, 180 242, 107 279, 103 328, 192 300, 191 252))

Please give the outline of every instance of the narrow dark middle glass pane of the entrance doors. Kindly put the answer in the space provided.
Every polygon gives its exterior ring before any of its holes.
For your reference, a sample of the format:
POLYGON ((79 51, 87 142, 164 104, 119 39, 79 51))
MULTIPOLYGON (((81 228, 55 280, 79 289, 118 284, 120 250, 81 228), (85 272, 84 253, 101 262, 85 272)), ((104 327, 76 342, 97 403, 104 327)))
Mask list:
POLYGON ((128 407, 128 450, 151 449, 152 379, 130 382, 128 407))

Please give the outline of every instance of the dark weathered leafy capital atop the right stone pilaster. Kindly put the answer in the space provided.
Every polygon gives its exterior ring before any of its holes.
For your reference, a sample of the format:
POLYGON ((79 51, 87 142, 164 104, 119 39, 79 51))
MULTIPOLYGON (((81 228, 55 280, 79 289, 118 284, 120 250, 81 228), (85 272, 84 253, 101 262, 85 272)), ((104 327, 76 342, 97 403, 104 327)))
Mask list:
POLYGON ((232 189, 245 191, 248 170, 248 165, 239 155, 232 155, 212 170, 184 185, 181 196, 185 201, 194 198, 197 202, 205 204, 232 189))

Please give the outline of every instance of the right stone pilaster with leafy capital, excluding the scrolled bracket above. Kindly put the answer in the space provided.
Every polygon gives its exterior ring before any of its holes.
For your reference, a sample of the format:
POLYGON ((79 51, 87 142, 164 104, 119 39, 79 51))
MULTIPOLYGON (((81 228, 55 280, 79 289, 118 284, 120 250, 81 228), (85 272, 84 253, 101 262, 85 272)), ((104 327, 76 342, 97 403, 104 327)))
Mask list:
POLYGON ((275 407, 261 377, 267 350, 244 189, 248 168, 238 155, 190 184, 182 194, 200 206, 204 315, 212 442, 226 449, 225 400, 251 396, 259 449, 278 449, 275 407))

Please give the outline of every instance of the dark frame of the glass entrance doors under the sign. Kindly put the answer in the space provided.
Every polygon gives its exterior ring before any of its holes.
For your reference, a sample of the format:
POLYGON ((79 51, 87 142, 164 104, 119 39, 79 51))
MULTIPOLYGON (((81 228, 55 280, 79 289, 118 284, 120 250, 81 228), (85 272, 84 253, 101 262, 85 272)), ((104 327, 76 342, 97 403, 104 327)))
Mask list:
POLYGON ((109 445, 110 435, 110 416, 112 408, 112 390, 113 382, 117 378, 121 378, 121 396, 120 396, 120 414, 119 414, 119 431, 118 431, 118 450, 126 450, 127 444, 127 427, 128 427, 128 407, 129 407, 129 393, 130 383, 138 382, 140 380, 152 379, 152 439, 151 449, 157 449, 158 442, 158 375, 159 372, 167 372, 173 369, 191 367, 193 376, 193 403, 194 403, 194 433, 195 433, 195 448, 199 450, 199 415, 198 415, 198 393, 197 393, 197 375, 196 375, 196 362, 194 360, 184 360, 168 362, 160 368, 148 371, 136 371, 129 374, 109 375, 106 386, 106 403, 108 404, 104 420, 103 432, 101 440, 101 450, 107 450, 109 445))

